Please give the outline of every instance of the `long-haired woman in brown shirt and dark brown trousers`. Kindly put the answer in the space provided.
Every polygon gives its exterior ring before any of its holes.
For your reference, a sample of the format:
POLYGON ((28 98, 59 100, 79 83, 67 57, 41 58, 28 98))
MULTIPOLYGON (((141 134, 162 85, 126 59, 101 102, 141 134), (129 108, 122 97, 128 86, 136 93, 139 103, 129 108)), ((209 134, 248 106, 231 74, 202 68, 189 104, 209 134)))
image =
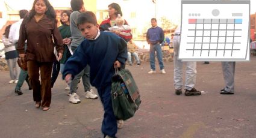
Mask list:
POLYGON ((48 0, 34 0, 33 7, 20 26, 17 50, 27 62, 36 107, 49 110, 51 104, 52 62, 55 60, 54 39, 58 60, 62 58, 63 42, 58 31, 56 13, 48 0), (25 52, 25 41, 27 50, 25 52), (39 80, 39 73, 41 81, 39 80))

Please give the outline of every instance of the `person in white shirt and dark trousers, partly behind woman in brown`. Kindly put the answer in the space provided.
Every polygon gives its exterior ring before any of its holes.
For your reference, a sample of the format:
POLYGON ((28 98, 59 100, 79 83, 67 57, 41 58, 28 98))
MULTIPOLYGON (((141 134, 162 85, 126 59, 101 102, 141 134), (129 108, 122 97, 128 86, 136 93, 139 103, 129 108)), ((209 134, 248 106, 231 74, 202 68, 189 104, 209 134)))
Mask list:
MULTIPOLYGON (((10 42, 13 43, 16 47, 17 47, 17 42, 19 40, 20 25, 23 22, 23 18, 27 14, 28 14, 27 10, 20 10, 19 11, 20 20, 16 23, 13 23, 13 25, 11 25, 8 38, 9 38, 10 42)), ((25 71, 25 70, 20 70, 19 80, 18 80, 17 85, 15 87, 15 93, 18 94, 18 95, 22 95, 22 92, 21 92, 20 88, 23 85, 24 80, 26 80, 26 82, 28 83, 29 89, 32 89, 31 86, 30 86, 30 83, 28 82, 28 72, 25 71)))

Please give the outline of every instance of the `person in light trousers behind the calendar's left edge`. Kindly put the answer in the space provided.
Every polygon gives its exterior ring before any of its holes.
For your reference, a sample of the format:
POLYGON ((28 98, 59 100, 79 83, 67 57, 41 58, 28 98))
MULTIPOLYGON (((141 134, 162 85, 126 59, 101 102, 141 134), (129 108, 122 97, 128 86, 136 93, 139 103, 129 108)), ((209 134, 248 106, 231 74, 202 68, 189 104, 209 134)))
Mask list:
POLYGON ((174 65, 174 74, 173 82, 175 87, 175 94, 182 94, 183 87, 183 63, 186 64, 186 82, 185 82, 185 95, 201 95, 201 91, 195 89, 196 83, 196 62, 188 61, 183 62, 178 59, 178 53, 180 50, 180 37, 181 37, 181 28, 178 26, 175 30, 173 36, 173 65, 174 65))

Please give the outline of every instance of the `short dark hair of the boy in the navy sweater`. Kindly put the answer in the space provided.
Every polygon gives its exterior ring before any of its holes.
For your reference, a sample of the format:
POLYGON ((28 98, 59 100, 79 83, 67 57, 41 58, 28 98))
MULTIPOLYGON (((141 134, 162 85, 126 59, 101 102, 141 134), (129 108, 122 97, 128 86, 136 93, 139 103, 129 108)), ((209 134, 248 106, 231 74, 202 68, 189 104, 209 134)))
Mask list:
POLYGON ((97 25, 97 19, 95 14, 92 11, 80 13, 76 20, 76 25, 78 26, 83 23, 92 23, 93 25, 97 25))

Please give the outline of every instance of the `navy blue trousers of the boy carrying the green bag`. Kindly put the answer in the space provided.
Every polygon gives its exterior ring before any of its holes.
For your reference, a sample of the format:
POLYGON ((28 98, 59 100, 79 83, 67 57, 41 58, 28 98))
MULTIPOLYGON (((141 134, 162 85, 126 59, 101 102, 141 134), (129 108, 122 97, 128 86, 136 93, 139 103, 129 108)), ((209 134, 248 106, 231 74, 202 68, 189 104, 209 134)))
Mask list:
POLYGON ((117 124, 112 108, 111 83, 103 88, 97 88, 97 90, 105 111, 101 131, 104 136, 116 137, 117 124))

